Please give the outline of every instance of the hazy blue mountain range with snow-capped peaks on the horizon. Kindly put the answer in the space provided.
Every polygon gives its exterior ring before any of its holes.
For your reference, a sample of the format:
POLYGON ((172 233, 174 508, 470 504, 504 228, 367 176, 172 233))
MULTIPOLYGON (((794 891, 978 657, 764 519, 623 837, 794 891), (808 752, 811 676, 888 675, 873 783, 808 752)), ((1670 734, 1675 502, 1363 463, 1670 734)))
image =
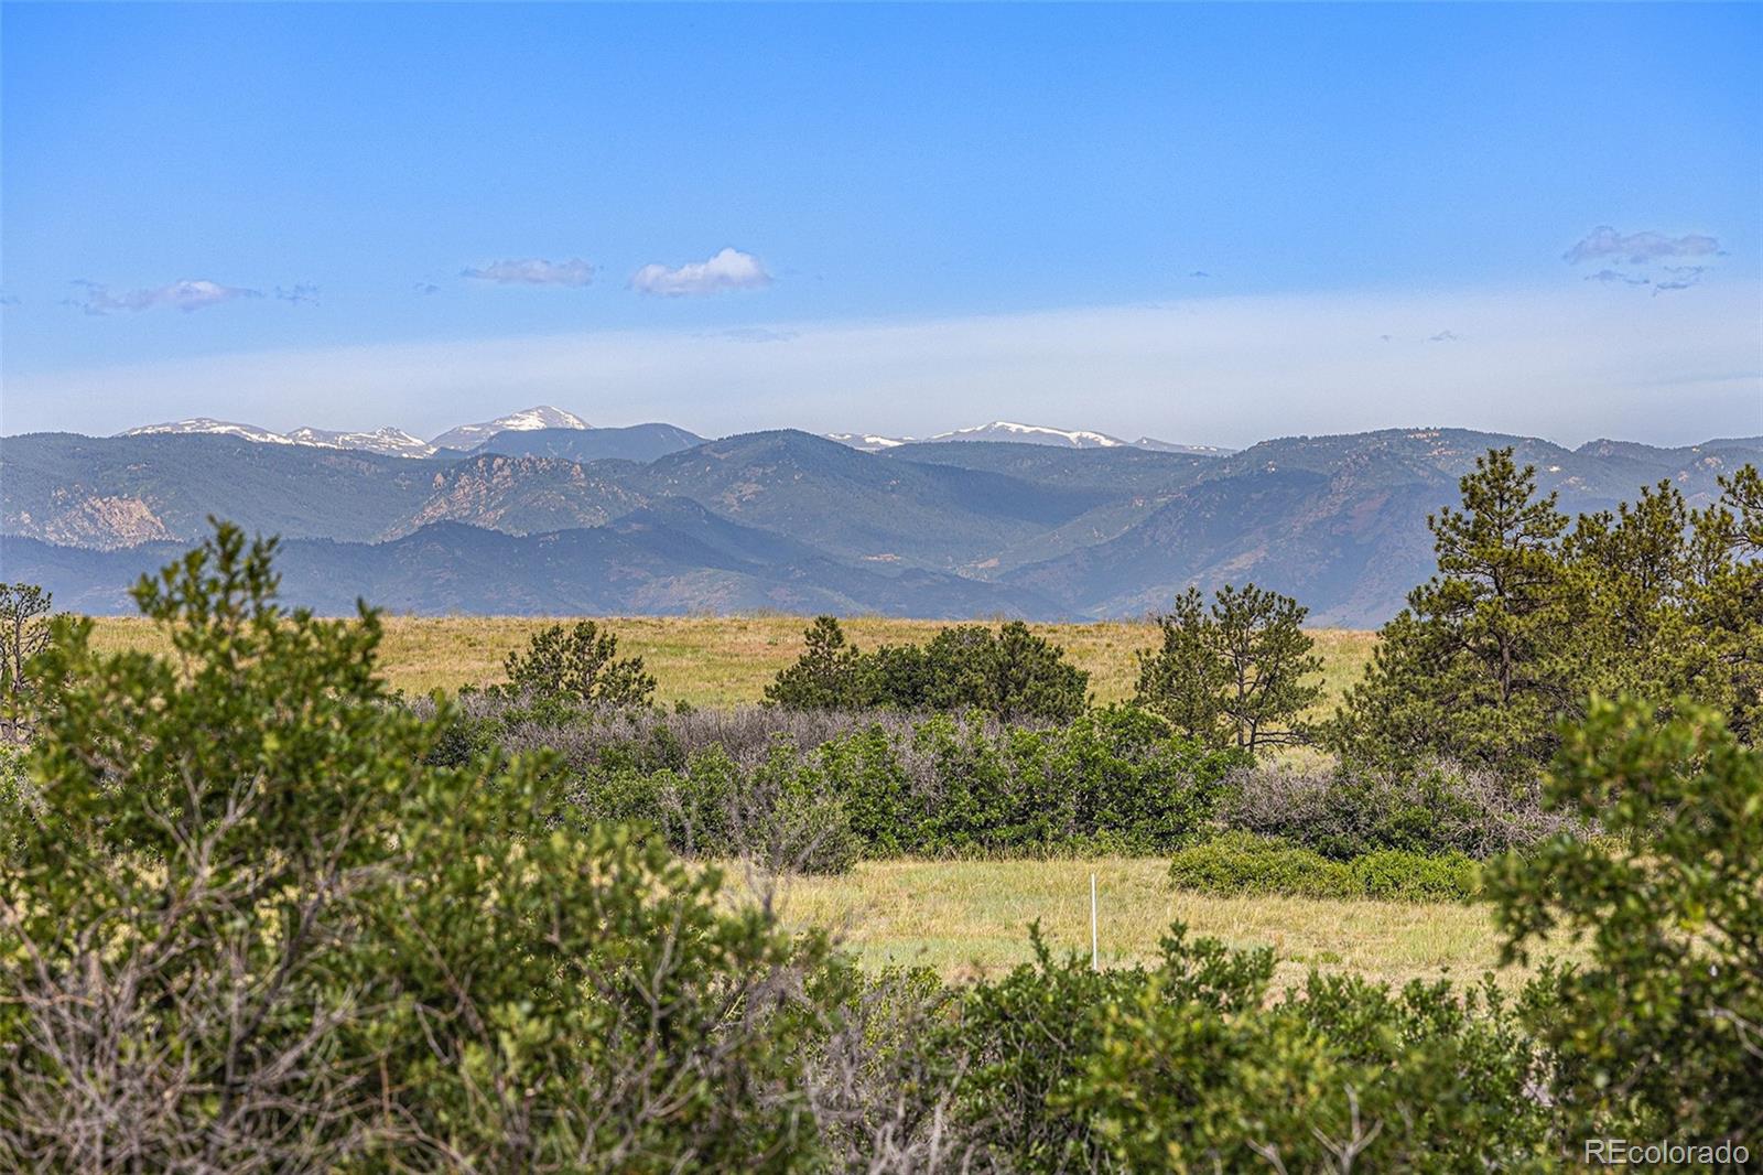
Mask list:
POLYGON ((418 441, 425 453, 219 422, 4 438, 0 575, 62 607, 129 610, 134 577, 215 515, 280 535, 286 595, 330 612, 365 596, 411 612, 1075 619, 1253 580, 1298 596, 1312 623, 1372 626, 1432 573, 1426 515, 1490 446, 1513 445, 1569 513, 1663 478, 1701 505, 1719 475, 1763 464, 1763 438, 1566 448, 1386 429, 1227 453, 1007 430, 866 452, 788 429, 703 439, 541 409, 510 420, 418 441))

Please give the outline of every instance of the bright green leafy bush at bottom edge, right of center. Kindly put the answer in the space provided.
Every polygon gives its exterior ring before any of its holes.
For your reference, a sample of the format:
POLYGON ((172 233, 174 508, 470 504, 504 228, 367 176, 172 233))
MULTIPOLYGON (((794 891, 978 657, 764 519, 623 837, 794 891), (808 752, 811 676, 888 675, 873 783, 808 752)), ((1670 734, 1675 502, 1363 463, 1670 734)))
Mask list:
POLYGON ((957 1113, 987 1166, 1551 1170, 1541 1066, 1491 984, 1400 993, 1312 977, 1273 997, 1271 951, 1188 940, 1149 970, 1088 960, 977 983, 931 1046, 963 1057, 957 1113))

